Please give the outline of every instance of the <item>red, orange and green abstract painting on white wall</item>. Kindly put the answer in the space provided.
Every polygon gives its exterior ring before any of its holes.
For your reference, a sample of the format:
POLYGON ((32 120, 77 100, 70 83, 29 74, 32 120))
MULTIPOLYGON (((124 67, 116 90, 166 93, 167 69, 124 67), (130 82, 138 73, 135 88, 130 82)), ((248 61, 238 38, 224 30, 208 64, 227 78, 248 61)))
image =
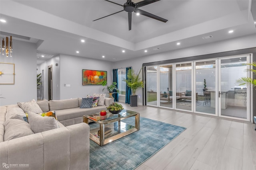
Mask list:
POLYGON ((82 70, 83 85, 101 85, 107 81, 107 72, 98 70, 82 70))

